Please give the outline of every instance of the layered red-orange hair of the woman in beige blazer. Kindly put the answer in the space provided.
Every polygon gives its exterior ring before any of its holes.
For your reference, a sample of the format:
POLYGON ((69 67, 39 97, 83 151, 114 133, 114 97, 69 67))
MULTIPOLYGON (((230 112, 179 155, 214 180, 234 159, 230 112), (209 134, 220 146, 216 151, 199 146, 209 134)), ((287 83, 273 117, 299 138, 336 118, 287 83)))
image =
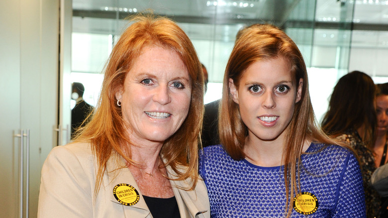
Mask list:
POLYGON ((198 137, 204 110, 201 64, 191 40, 174 21, 153 15, 138 15, 131 22, 133 23, 120 36, 106 63, 101 94, 93 118, 76 139, 90 141, 97 158, 95 195, 109 158, 122 157, 128 164, 136 164, 131 159, 131 139, 126 135, 127 126, 122 118, 121 108, 116 105, 115 94, 122 89, 134 61, 148 45, 176 51, 192 79, 188 115, 178 131, 164 142, 160 157, 178 175, 174 180, 191 178, 192 186, 189 189, 193 190, 198 178, 198 137), (181 165, 187 166, 185 172, 178 169, 181 165))

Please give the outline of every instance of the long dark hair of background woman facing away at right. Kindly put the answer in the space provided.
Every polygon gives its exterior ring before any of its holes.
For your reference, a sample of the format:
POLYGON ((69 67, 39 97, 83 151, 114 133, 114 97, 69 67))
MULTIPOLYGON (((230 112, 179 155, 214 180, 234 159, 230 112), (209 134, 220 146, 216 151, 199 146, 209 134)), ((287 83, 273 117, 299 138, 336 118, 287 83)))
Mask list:
POLYGON ((370 76, 360 71, 344 75, 333 89, 322 129, 337 136, 364 126, 362 139, 373 151, 377 126, 375 96, 376 86, 370 76))

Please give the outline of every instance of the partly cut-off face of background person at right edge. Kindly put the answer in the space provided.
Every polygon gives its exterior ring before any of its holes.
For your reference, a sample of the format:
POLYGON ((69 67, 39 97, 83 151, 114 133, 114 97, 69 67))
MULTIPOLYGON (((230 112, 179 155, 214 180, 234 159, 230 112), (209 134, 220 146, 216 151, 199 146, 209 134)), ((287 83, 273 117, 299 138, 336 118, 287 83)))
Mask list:
POLYGON ((376 98, 378 134, 385 135, 388 132, 388 95, 381 95, 376 98))

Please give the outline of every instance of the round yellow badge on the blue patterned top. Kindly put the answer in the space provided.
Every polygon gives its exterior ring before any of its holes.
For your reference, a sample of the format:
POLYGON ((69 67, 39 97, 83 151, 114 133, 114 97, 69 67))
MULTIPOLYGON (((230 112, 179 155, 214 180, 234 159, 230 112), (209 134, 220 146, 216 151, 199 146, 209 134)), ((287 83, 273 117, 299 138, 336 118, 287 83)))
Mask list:
POLYGON ((299 214, 313 214, 318 210, 318 199, 309 192, 299 193, 293 198, 293 209, 299 214))

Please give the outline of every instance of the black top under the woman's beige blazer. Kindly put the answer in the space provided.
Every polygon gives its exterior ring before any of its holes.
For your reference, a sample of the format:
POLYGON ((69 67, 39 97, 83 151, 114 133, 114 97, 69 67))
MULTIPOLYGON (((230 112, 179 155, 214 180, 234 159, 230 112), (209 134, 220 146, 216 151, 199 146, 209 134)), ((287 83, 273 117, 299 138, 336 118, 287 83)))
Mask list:
POLYGON ((154 218, 181 218, 177 199, 172 198, 153 198, 144 196, 148 209, 154 218))

